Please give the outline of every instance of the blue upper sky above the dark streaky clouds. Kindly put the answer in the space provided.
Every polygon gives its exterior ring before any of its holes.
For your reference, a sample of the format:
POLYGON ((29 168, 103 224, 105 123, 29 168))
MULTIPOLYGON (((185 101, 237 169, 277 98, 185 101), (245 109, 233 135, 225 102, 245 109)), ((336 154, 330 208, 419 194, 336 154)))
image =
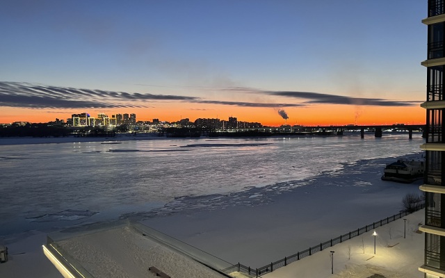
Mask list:
POLYGON ((221 88, 421 101, 426 6, 2 0, 0 81, 206 101, 296 104, 221 88))

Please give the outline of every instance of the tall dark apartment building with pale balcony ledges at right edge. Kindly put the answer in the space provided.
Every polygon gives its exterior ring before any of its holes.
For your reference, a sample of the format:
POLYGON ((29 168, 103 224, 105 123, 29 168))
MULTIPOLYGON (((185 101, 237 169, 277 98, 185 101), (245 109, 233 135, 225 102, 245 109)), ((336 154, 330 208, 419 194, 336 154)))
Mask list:
POLYGON ((421 65, 427 70, 426 168, 420 189, 425 193, 425 256, 419 270, 425 278, 445 277, 445 0, 428 0, 428 51, 421 65), (444 212, 444 216, 442 216, 444 212))

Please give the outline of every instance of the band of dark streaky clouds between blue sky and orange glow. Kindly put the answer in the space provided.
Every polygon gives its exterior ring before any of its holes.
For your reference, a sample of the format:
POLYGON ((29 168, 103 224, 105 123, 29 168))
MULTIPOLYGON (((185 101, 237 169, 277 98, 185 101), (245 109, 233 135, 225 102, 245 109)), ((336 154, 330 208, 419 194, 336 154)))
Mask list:
MULTIPOLYGON (((189 87, 188 87, 189 88, 189 87)), ((196 88, 197 90, 203 88, 196 88)), ((209 88, 204 88, 209 90, 209 88)), ((22 108, 147 108, 156 101, 181 101, 194 104, 217 104, 258 108, 302 107, 310 104, 343 104, 355 106, 416 106, 422 101, 397 101, 346 97, 319 92, 271 91, 254 88, 213 88, 215 91, 266 95, 271 101, 225 101, 180 95, 154 95, 140 92, 115 92, 83 88, 58 87, 35 83, 0 81, 0 106, 22 108), (289 103, 273 101, 273 97, 286 97, 289 103)))

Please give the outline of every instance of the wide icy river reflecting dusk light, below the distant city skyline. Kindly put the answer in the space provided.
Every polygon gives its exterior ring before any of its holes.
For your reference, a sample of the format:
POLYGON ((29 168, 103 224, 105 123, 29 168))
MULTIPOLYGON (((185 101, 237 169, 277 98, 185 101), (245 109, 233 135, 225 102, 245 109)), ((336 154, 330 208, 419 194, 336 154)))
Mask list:
MULTIPOLYGON (((0 236, 127 215, 254 202, 358 161, 420 152, 420 134, 0 145, 0 236), (184 199, 186 202, 184 202, 184 199)), ((379 166, 380 167, 380 166, 379 166)), ((368 181, 357 181, 366 186, 368 181)), ((308 185, 309 184, 309 185, 308 185)), ((392 213, 392 212, 391 212, 392 213)))

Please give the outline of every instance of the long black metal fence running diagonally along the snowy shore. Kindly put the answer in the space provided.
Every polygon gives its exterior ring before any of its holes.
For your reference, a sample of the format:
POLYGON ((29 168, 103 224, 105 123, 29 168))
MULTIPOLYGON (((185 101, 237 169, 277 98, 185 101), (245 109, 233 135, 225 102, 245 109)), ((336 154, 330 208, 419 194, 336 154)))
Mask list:
POLYGON ((368 225, 366 225, 362 228, 356 229, 354 231, 349 231, 347 234, 337 236, 337 238, 331 238, 330 240, 327 240, 324 243, 320 243, 313 247, 309 247, 309 249, 297 252, 297 254, 293 254, 291 256, 285 256, 284 259, 275 261, 275 263, 270 263, 268 265, 264 265, 261 268, 250 268, 250 266, 245 266, 245 265, 242 265, 241 263, 237 263, 237 264, 232 265, 229 268, 225 268, 221 271, 226 274, 230 274, 232 272, 237 271, 237 272, 243 272, 250 276, 259 277, 259 275, 263 275, 268 272, 273 272, 273 270, 276 270, 277 268, 286 266, 289 263, 293 263, 294 261, 299 261, 300 259, 303 259, 307 256, 311 256, 312 254, 315 254, 316 252, 325 250, 328 247, 332 247, 338 243, 342 243, 345 240, 348 240, 348 239, 354 238, 355 236, 364 234, 367 231, 371 231, 372 229, 383 226, 383 225, 393 222, 397 219, 403 218, 403 216, 413 213, 415 211, 419 211, 424 207, 425 207, 425 204, 423 204, 423 203, 419 204, 418 206, 416 206, 414 208, 413 211, 410 211, 410 212, 401 211, 401 212, 396 213, 392 216, 389 216, 388 218, 384 218, 384 219, 381 219, 380 221, 373 222, 372 224, 368 224, 368 225))

